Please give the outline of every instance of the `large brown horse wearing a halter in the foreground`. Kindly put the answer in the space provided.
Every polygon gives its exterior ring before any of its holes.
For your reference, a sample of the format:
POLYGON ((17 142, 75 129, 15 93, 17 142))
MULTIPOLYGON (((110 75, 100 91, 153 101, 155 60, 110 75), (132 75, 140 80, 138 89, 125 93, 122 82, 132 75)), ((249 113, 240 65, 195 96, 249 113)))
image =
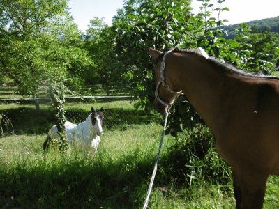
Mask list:
POLYGON ((268 176, 279 174, 279 79, 250 75, 197 50, 149 48, 156 109, 186 95, 232 167, 236 208, 262 208, 268 176))

